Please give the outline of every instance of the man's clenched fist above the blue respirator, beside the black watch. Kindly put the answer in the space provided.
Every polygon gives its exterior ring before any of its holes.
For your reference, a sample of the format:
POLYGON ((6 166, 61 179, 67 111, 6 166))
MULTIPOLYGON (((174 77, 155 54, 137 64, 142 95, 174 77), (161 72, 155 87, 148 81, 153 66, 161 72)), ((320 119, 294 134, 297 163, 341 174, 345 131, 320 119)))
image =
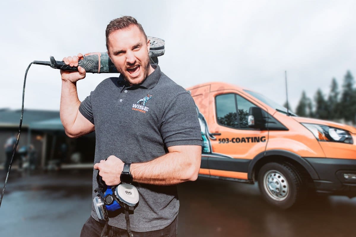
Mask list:
POLYGON ((96 163, 94 169, 99 170, 99 175, 106 185, 114 186, 121 182, 120 174, 124 169, 124 162, 116 156, 109 156, 106 161, 101 160, 100 163, 96 163))

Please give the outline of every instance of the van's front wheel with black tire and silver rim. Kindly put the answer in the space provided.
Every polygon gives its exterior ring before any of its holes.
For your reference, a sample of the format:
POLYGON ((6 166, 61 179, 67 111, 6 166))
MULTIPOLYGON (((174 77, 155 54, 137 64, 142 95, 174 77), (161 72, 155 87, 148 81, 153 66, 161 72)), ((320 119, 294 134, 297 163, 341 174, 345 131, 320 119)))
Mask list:
POLYGON ((304 193, 301 174, 290 163, 263 165, 258 172, 258 187, 269 204, 281 209, 293 206, 304 193))

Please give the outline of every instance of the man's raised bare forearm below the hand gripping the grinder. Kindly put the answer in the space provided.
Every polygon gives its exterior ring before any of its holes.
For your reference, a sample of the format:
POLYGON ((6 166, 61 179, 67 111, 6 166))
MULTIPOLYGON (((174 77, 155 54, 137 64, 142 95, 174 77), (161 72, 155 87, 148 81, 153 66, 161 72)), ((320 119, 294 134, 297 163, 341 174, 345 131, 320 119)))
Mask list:
POLYGON ((72 128, 75 118, 77 118, 79 106, 80 101, 76 83, 62 81, 59 114, 65 130, 72 128))

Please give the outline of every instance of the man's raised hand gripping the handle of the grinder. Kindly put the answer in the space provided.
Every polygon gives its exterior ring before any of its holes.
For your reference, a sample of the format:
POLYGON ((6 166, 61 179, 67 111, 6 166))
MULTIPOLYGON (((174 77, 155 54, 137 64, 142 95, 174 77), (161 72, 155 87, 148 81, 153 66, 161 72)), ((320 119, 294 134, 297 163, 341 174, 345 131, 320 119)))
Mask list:
MULTIPOLYGON (((77 56, 69 56, 68 58, 63 58, 63 62, 71 67, 78 66, 78 60, 83 59, 83 54, 79 53, 77 56)), ((85 77, 85 70, 81 66, 78 66, 78 72, 64 71, 61 70, 62 81, 75 83, 80 79, 85 77)))

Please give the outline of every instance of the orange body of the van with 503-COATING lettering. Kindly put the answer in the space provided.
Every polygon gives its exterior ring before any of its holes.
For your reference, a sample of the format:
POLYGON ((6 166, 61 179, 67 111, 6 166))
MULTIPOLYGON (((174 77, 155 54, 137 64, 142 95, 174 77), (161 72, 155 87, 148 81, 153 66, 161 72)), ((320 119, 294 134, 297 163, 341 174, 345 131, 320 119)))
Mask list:
POLYGON ((251 161, 261 153, 273 150, 291 152, 298 157, 306 158, 356 159, 356 128, 354 127, 318 119, 288 116, 250 95, 244 91, 244 88, 223 82, 210 82, 187 90, 196 103, 203 138, 200 174, 247 179, 247 176, 250 176, 251 161), (239 96, 249 104, 260 107, 285 129, 269 131, 237 129, 219 124, 215 98, 224 94, 235 94, 237 95, 235 101, 239 96), (351 133, 354 144, 318 141, 302 123, 323 124, 347 130, 351 133))

